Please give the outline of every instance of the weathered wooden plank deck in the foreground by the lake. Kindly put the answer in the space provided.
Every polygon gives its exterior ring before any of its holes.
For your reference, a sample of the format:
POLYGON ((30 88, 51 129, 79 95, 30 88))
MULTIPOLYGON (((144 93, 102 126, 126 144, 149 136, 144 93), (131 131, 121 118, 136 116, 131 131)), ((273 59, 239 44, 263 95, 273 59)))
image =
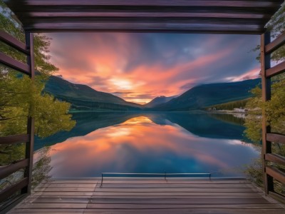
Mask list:
POLYGON ((247 180, 49 180, 11 213, 274 213, 284 205, 247 180))

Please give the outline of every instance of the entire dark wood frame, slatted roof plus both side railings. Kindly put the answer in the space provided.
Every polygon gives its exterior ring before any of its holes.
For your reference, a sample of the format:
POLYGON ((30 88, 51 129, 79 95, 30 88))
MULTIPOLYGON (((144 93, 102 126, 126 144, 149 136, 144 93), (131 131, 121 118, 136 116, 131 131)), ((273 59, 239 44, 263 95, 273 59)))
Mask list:
MULTIPOLYGON (((28 61, 26 64, 21 63, 0 52, 0 63, 25 73, 32 79, 35 75, 32 32, 51 31, 262 34, 263 101, 270 100, 271 77, 285 71, 285 62, 273 68, 270 65, 270 54, 285 44, 285 34, 272 42, 270 34, 264 34, 266 31, 264 25, 279 9, 283 0, 4 0, 4 2, 22 22, 26 31, 26 44, 4 31, 0 31, 0 39, 26 54, 28 61)), ((284 157, 271 153, 271 142, 284 143, 285 136, 271 133, 270 127, 266 126, 264 116, 262 130, 264 188, 266 194, 275 194, 273 178, 284 183, 285 175, 267 163, 285 165, 284 157)), ((26 159, 0 168, 0 178, 19 168, 26 169, 25 178, 1 191, 0 199, 13 194, 16 190, 21 190, 22 195, 28 195, 31 192, 33 133, 34 120, 28 118, 26 135, 0 138, 0 144, 26 143, 26 159)))

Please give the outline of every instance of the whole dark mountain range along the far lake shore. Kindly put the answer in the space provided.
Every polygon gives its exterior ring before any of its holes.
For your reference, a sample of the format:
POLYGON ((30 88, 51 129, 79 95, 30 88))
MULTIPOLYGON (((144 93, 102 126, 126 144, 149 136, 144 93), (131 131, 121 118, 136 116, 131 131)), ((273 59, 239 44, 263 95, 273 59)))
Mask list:
POLYGON ((128 102, 111 93, 96 91, 57 76, 48 79, 44 91, 71 103, 71 111, 189 111, 249 98, 252 96, 249 91, 260 82, 257 78, 234 83, 204 84, 180 96, 159 96, 145 105, 128 102))

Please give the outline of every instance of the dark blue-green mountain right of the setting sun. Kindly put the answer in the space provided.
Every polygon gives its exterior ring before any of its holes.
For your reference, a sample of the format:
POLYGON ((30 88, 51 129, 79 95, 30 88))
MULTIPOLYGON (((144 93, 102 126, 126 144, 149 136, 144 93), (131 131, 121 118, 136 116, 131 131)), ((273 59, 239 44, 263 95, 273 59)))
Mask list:
POLYGON ((167 103, 162 103, 152 110, 155 111, 189 111, 202 109, 219 103, 239 101, 249 98, 252 88, 261 82, 260 78, 234 83, 212 83, 195 86, 167 103))

